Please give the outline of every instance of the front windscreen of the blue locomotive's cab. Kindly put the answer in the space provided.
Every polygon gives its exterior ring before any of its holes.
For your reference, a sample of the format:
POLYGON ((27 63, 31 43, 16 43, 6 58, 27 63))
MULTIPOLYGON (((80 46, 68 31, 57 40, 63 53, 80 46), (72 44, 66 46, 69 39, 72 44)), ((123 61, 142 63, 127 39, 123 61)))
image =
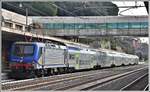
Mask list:
POLYGON ((34 54, 34 46, 27 44, 16 44, 14 46, 13 55, 14 56, 33 56, 34 54))

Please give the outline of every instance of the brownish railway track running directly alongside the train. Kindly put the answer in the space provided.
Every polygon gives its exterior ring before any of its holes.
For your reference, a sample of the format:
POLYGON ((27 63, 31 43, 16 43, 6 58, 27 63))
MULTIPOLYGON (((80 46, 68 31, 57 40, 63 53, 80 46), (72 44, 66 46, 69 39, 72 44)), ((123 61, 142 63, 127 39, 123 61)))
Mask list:
MULTIPOLYGON (((45 78, 35 78, 21 81, 6 82, 2 83, 2 90, 61 90, 61 89, 66 90, 65 88, 70 87, 66 84, 70 85, 74 82, 76 82, 77 84, 84 84, 87 82, 92 82, 103 78, 108 78, 112 76, 117 76, 119 74, 127 73, 127 71, 135 70, 136 68, 137 66, 128 67, 127 69, 122 70, 121 68, 120 69, 113 68, 113 69, 82 72, 82 74, 81 72, 78 72, 78 73, 50 76, 45 78), (116 71, 115 69, 116 70, 118 69, 118 71, 116 71), (101 76, 101 78, 99 78, 98 76, 101 76), (81 79, 84 80, 85 82, 81 81, 81 79)), ((75 86, 75 84, 72 86, 75 86)))

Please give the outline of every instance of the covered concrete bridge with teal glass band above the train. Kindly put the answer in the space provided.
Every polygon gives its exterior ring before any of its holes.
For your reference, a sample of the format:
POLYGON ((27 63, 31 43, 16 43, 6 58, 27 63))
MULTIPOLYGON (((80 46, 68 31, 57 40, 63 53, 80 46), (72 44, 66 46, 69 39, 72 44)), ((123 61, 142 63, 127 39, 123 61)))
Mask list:
POLYGON ((148 16, 31 17, 50 36, 148 36, 148 16))

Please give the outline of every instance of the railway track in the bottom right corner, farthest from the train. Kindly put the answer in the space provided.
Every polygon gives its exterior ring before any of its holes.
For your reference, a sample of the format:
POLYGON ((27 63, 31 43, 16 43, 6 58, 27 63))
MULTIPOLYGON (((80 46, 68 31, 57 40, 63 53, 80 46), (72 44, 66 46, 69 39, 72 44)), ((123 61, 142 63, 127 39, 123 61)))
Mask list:
POLYGON ((148 69, 142 70, 142 71, 137 71, 133 72, 131 74, 124 75, 122 77, 118 77, 116 79, 112 79, 106 83, 102 84, 97 84, 93 85, 92 87, 88 87, 82 90, 144 90, 144 87, 148 84, 148 78, 146 78, 147 82, 143 82, 142 79, 143 77, 148 76, 148 69), (143 76, 144 75, 144 76, 143 76), (133 83, 133 81, 138 80, 139 85, 142 85, 141 87, 136 87, 137 84, 133 83), (132 85, 131 85, 132 84, 132 85))

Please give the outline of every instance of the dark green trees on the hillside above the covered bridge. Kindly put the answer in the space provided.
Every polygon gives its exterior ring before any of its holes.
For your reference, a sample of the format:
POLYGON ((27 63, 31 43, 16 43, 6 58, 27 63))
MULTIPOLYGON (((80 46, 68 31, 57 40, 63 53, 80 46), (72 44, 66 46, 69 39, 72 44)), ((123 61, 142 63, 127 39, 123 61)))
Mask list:
POLYGON ((28 8, 29 16, 116 16, 118 7, 111 2, 4 2, 2 8, 25 15, 28 8), (58 6, 58 7, 57 7, 58 6))

